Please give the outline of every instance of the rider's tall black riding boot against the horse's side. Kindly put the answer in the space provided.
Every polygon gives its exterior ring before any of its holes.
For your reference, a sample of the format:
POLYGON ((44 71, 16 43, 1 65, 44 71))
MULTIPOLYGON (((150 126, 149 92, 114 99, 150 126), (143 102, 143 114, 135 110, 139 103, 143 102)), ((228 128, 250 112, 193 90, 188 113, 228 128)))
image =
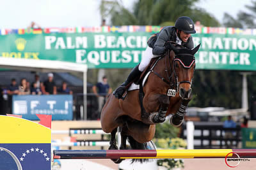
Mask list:
MULTIPOLYGON (((140 64, 139 64, 140 65, 140 64)), ((127 86, 130 82, 134 81, 134 79, 136 79, 136 77, 141 75, 141 71, 139 70, 139 65, 136 65, 131 73, 128 75, 127 79, 125 82, 123 82, 123 84, 121 84, 121 86, 119 86, 113 93, 113 95, 115 95, 116 98, 120 99, 122 98, 122 96, 125 93, 125 86, 127 86)))

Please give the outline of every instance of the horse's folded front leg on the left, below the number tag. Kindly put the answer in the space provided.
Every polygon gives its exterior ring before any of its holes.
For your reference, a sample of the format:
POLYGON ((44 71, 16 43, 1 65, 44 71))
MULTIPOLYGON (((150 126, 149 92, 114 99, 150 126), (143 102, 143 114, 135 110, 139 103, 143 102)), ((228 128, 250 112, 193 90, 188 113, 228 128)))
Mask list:
POLYGON ((166 95, 161 95, 158 98, 158 100, 160 102, 159 111, 158 112, 153 112, 148 117, 148 120, 151 121, 152 123, 163 123, 165 121, 168 105, 170 104, 169 97, 166 96, 166 95))

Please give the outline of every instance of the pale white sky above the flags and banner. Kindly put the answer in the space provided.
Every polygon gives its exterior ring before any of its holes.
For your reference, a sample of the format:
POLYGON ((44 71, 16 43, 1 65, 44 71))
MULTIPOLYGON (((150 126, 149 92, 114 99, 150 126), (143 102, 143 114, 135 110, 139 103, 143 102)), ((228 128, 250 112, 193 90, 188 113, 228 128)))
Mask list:
MULTIPOLYGON (((0 0, 0 29, 26 28, 31 21, 41 27, 100 26, 101 0, 0 0)), ((131 9, 135 0, 122 0, 131 9)), ((251 0, 201 0, 197 5, 220 22, 224 12, 236 17, 251 0)), ((108 24, 108 20, 107 23, 108 24)))

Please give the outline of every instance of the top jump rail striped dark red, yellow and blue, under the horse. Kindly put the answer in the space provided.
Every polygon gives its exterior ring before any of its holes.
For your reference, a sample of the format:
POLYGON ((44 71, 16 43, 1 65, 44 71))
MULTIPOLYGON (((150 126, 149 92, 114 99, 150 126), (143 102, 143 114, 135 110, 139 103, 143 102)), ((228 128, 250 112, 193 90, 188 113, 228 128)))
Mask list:
POLYGON ((70 158, 256 158, 256 149, 54 150, 54 159, 70 158))

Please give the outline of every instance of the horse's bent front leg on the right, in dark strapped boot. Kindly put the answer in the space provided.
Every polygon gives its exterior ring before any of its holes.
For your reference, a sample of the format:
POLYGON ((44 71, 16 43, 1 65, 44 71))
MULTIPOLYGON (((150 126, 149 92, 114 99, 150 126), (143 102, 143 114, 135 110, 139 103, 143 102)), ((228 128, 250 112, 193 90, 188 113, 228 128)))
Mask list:
POLYGON ((173 114, 173 116, 170 120, 170 123, 174 127, 180 127, 180 125, 182 125, 183 120, 184 120, 184 116, 187 112, 186 108, 187 108, 188 103, 189 103, 190 100, 191 100, 191 98, 189 98, 188 100, 182 100, 179 110, 175 114, 173 114))

